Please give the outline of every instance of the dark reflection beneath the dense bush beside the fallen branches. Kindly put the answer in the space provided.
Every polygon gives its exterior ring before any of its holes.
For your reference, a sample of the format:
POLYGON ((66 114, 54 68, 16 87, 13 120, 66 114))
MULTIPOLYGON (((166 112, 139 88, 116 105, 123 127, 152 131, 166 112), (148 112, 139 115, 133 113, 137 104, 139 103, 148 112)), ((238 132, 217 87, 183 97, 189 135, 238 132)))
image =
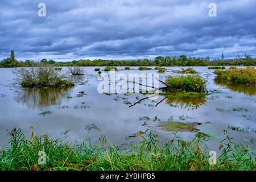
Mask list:
POLYGON ((202 106, 206 102, 206 98, 204 94, 200 94, 198 96, 175 96, 173 94, 166 95, 166 103, 171 106, 179 106, 181 109, 183 108, 191 108, 197 109, 202 106))

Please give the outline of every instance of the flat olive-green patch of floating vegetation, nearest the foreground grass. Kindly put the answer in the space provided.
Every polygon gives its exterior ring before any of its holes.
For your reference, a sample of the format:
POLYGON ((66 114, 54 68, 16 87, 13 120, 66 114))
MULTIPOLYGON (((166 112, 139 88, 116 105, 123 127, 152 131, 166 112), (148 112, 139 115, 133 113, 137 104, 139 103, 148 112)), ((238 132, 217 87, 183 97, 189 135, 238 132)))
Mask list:
POLYGON ((159 127, 162 127, 164 130, 167 131, 199 131, 196 129, 196 126, 201 125, 201 123, 184 123, 184 122, 176 122, 176 121, 166 121, 161 122, 159 124, 159 127))

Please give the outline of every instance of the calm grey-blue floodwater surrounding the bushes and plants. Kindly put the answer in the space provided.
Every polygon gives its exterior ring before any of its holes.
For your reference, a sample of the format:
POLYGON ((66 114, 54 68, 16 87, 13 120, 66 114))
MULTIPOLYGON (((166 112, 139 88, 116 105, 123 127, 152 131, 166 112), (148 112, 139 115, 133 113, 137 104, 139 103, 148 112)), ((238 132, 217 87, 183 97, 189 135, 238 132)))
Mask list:
MULTIPOLYGON (((196 128, 211 136, 207 142, 210 150, 218 151, 218 142, 224 138, 224 130, 236 142, 256 149, 256 90, 244 85, 230 86, 216 82, 213 69, 193 67, 207 79, 209 95, 205 98, 163 100, 164 97, 159 96, 158 100, 146 99, 129 107, 146 96, 140 93, 98 93, 97 85, 101 81, 94 68, 84 67, 84 76, 71 76, 76 86, 67 90, 22 88, 15 84, 14 68, 0 68, 0 146, 9 139, 6 130, 20 127, 29 137, 31 126, 36 134, 47 133, 53 138, 65 136, 72 142, 81 142, 88 136, 96 141, 104 135, 115 145, 137 140, 138 137, 129 136, 135 136, 151 126, 160 142, 167 142, 174 135, 158 125, 171 119, 177 122, 200 122, 201 125, 196 128), (85 94, 81 94, 82 91, 85 94), (162 102, 155 106, 159 101, 162 102), (240 127, 240 131, 234 131, 229 126, 240 127)), ((62 71, 67 72, 68 69, 63 68, 62 71)), ((156 73, 154 68, 150 71, 123 70, 117 73, 121 72, 126 75, 156 73)), ((166 76, 172 74, 159 73, 159 78, 164 81, 166 76)), ((195 133, 188 131, 179 131, 177 135, 186 140, 195 137, 195 133)))

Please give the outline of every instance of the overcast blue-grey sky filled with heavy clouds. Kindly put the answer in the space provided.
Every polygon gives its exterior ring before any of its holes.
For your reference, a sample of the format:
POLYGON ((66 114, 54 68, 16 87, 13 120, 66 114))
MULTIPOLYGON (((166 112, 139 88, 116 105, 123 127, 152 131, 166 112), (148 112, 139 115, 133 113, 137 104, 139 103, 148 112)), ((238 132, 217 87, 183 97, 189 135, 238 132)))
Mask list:
POLYGON ((11 49, 18 60, 255 56, 256 1, 1 0, 0 60, 11 49))

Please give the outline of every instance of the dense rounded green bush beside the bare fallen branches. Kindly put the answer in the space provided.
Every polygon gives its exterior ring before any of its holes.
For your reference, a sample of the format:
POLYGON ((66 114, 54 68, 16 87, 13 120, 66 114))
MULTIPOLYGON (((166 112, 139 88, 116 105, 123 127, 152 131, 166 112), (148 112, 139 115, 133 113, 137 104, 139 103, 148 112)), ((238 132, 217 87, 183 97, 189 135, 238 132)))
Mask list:
POLYGON ((170 91, 200 92, 206 91, 206 80, 199 75, 168 76, 166 79, 170 91))

